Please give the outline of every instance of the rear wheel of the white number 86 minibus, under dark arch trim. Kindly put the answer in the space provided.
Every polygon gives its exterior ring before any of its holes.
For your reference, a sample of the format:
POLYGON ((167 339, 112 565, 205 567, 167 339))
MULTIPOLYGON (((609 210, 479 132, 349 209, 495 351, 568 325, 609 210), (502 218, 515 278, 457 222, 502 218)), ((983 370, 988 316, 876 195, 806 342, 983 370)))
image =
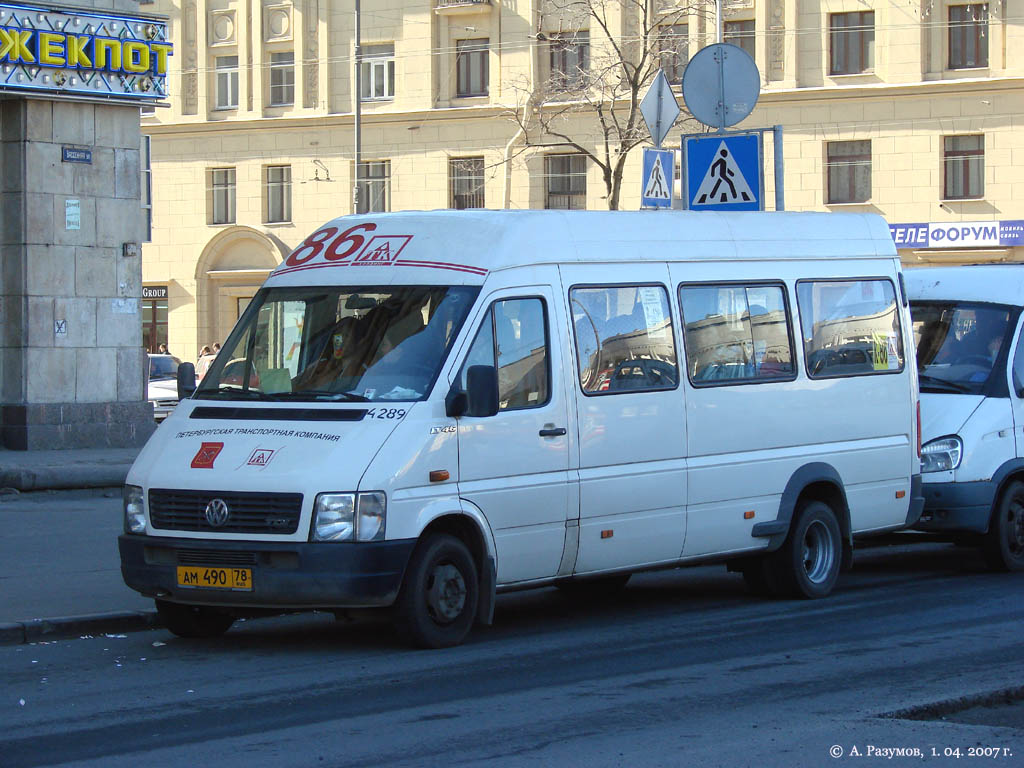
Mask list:
POLYGON ((814 600, 833 591, 843 563, 843 536, 836 513, 812 501, 798 510, 790 535, 771 556, 769 575, 778 597, 814 600))

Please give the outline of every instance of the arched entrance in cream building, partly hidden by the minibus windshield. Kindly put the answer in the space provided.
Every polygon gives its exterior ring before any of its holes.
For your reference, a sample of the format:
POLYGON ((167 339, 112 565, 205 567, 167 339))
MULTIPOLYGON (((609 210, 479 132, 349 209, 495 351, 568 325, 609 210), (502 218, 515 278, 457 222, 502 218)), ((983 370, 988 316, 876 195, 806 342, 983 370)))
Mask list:
POLYGON ((283 243, 248 226, 218 232, 196 265, 197 350, 223 343, 270 271, 288 255, 283 243))

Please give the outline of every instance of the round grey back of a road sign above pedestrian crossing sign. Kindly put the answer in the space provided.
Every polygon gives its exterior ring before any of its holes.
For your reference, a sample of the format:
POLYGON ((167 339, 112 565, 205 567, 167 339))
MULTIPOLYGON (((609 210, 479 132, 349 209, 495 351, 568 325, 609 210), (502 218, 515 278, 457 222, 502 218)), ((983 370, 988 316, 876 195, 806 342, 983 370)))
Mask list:
POLYGON ((719 130, 752 112, 761 95, 761 74, 751 54, 729 43, 697 51, 683 73, 683 100, 690 114, 719 130))

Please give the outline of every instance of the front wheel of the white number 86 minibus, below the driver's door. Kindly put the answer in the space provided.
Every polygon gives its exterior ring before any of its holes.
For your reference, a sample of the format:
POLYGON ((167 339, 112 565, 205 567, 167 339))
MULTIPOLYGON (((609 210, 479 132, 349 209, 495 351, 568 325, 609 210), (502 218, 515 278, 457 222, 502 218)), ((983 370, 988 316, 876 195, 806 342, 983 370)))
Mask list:
POLYGON ((395 603, 399 631, 419 648, 449 648, 461 643, 479 601, 476 563, 466 545, 435 534, 413 553, 395 603))

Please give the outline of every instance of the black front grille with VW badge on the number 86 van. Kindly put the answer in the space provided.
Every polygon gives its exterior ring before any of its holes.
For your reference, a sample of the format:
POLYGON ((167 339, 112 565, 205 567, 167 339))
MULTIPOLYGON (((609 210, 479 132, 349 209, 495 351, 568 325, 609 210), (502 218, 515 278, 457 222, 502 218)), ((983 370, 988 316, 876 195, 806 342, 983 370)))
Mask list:
POLYGON ((259 494, 240 490, 150 490, 150 521, 162 530, 202 530, 216 534, 294 534, 299 527, 302 494, 259 494), (214 527, 206 506, 220 499, 228 518, 214 527))

